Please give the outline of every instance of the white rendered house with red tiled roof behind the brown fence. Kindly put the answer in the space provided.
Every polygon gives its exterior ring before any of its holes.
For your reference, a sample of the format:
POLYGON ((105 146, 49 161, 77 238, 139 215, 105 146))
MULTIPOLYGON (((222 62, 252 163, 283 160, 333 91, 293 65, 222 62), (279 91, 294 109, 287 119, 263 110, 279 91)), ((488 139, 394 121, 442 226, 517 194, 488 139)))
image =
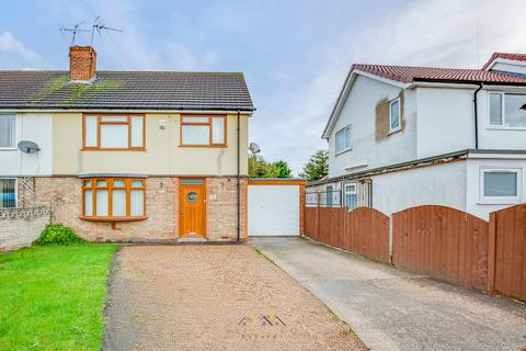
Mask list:
POLYGON ((481 69, 353 65, 308 201, 386 214, 445 205, 488 219, 526 201, 526 54, 481 69))

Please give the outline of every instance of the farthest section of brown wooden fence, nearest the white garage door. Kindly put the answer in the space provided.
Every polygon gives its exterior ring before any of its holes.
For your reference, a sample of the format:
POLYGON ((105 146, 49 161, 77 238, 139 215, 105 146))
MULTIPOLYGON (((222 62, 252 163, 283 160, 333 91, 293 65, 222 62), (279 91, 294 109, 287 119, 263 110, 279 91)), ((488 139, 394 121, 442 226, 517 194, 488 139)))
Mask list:
POLYGON ((307 207, 306 234, 313 240, 389 261, 389 217, 369 207, 307 207))

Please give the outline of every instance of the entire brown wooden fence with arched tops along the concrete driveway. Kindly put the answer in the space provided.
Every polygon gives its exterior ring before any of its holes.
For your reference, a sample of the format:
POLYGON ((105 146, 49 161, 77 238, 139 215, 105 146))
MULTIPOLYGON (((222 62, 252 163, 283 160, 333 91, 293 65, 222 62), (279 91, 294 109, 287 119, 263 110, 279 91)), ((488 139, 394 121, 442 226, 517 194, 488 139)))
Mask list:
MULTIPOLYGON (((389 217, 368 207, 307 207, 306 234, 389 261, 389 217)), ((450 207, 424 205, 392 215, 391 262, 470 288, 526 301, 526 204, 485 222, 450 207)))

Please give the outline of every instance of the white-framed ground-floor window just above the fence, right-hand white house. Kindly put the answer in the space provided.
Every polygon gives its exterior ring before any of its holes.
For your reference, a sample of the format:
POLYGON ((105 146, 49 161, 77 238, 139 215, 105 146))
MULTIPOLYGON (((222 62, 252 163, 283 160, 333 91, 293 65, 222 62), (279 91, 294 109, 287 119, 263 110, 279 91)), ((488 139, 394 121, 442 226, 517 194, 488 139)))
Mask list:
POLYGON ((483 204, 516 204, 522 201, 522 169, 482 168, 480 202, 483 204))

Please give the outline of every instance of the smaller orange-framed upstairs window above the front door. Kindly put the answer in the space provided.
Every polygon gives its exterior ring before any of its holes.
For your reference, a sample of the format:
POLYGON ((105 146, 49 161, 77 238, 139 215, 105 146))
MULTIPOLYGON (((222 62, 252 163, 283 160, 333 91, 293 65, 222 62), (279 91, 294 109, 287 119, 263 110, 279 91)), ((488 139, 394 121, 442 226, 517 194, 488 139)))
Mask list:
POLYGON ((181 146, 227 146, 226 116, 183 116, 181 146))

